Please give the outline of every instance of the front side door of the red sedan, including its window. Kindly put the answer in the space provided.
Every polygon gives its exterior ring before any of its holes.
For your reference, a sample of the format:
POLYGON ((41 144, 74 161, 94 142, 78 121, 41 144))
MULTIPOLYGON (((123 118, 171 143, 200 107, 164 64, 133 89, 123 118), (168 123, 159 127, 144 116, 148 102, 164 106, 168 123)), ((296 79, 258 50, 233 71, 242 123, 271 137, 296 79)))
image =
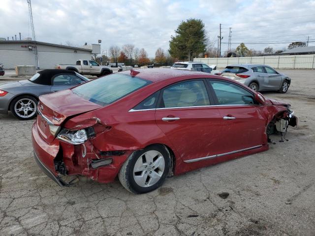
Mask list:
POLYGON ((209 79, 222 120, 221 137, 224 153, 258 148, 266 140, 266 127, 252 92, 231 82, 209 79))

